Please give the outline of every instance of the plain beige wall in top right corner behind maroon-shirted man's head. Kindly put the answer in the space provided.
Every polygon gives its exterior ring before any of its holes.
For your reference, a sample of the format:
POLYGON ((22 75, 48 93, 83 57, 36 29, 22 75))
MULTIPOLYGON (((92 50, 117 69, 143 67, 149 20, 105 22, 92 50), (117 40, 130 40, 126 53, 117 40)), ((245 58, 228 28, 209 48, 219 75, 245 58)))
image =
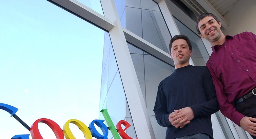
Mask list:
POLYGON ((256 34, 256 0, 238 0, 224 18, 229 23, 224 35, 235 35, 244 31, 256 34))

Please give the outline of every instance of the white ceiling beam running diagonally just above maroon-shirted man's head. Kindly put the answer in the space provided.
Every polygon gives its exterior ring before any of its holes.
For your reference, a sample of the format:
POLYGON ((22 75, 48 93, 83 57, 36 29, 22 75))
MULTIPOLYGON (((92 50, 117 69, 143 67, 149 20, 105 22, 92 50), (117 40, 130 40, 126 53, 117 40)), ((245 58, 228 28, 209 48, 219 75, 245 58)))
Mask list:
POLYGON ((221 22, 221 25, 223 28, 227 28, 229 26, 228 22, 223 18, 222 15, 220 15, 220 13, 215 9, 215 7, 210 4, 207 0, 196 0, 202 7, 204 7, 204 9, 209 12, 214 14, 215 16, 217 16, 221 22))

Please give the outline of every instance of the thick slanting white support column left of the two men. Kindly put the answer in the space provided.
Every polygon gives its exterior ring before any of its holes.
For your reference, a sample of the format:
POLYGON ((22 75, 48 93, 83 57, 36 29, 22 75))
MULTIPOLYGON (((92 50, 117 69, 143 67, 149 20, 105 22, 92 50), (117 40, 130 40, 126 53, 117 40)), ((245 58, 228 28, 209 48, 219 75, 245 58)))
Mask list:
POLYGON ((115 25, 109 30, 109 34, 137 137, 139 139, 155 139, 114 1, 101 0, 101 4, 104 15, 115 25))

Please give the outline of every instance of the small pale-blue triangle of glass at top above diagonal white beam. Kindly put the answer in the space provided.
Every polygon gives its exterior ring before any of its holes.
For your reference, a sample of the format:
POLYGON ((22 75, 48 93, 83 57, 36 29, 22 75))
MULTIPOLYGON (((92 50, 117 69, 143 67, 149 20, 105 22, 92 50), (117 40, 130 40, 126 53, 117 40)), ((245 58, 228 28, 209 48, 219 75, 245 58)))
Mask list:
POLYGON ((100 0, 77 0, 83 5, 93 9, 94 11, 98 12, 99 14, 103 15, 103 10, 101 7, 100 0))

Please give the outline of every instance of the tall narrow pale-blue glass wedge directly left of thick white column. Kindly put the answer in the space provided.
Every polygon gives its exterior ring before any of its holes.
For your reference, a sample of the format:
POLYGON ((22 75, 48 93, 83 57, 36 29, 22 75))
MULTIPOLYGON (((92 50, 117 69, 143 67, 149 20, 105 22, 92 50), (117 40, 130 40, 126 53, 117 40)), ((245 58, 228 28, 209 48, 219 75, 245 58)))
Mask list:
MULTIPOLYGON (((136 138, 136 133, 132 123, 129 106, 126 103, 126 96, 122 85, 121 76, 117 67, 115 54, 111 45, 108 33, 105 33, 104 52, 102 62, 102 79, 101 79, 101 93, 100 93, 100 110, 108 109, 108 113, 114 125, 120 120, 128 119, 132 125, 127 129, 127 134, 136 138)), ((102 119, 102 114, 99 115, 102 119)), ((113 135, 109 132, 108 138, 113 135)))

